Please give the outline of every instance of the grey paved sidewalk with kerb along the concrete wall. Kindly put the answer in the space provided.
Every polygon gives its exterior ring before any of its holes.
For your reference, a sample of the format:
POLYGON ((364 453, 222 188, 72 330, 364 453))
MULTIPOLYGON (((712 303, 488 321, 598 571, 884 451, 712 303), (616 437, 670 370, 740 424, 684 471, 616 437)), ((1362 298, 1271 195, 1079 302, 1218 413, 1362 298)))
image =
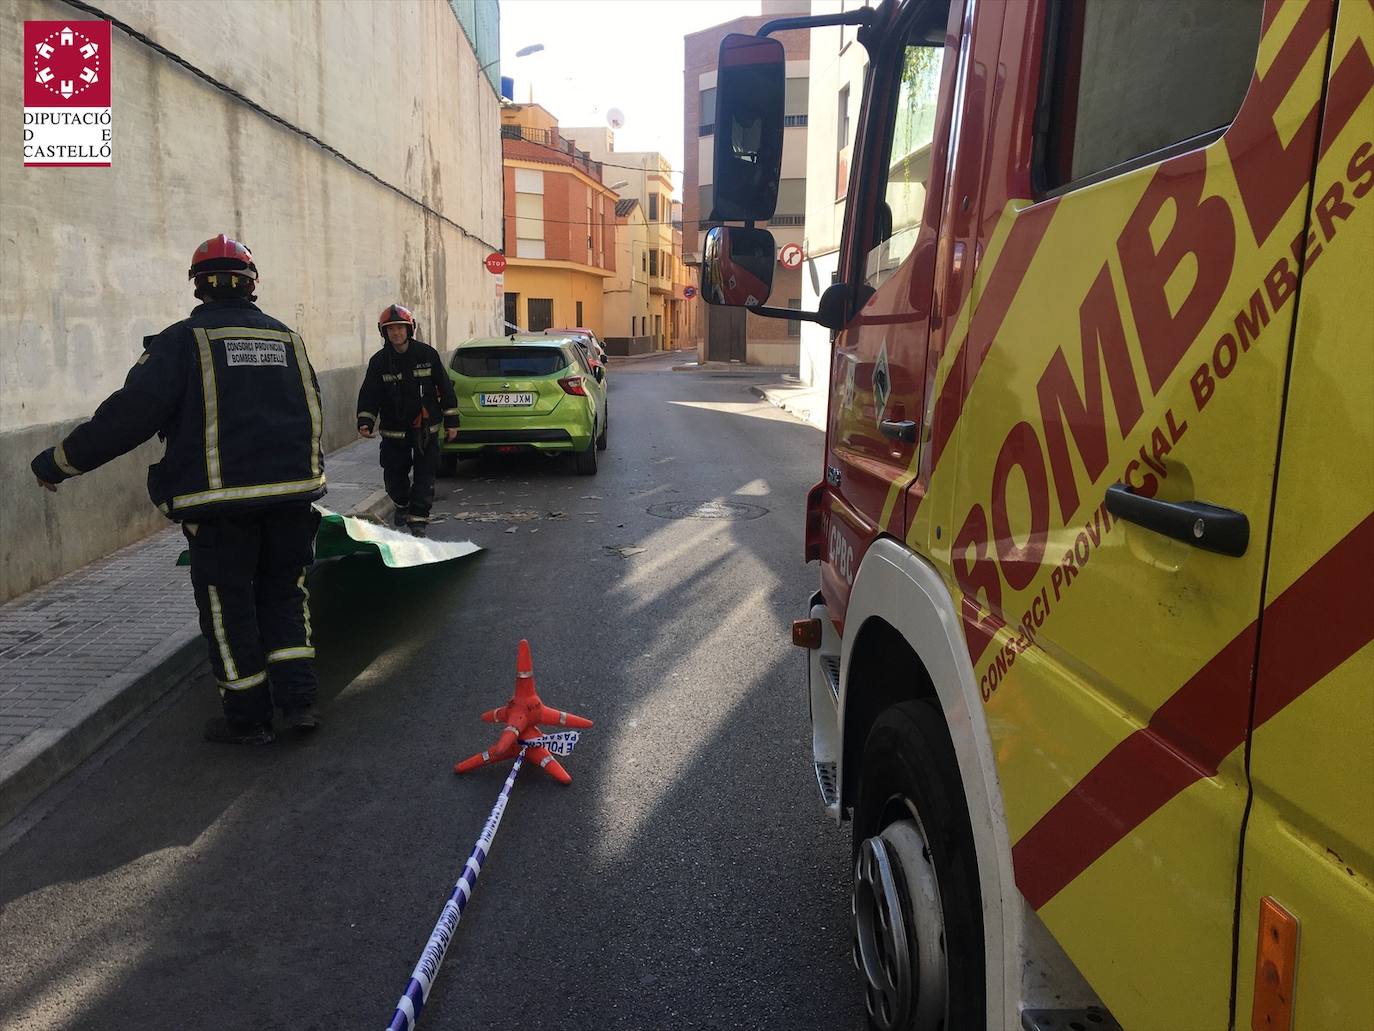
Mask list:
MULTIPOLYGON (((376 499, 375 441, 324 458, 322 505, 376 499)), ((168 526, 0 605, 0 826, 205 661, 168 526)))

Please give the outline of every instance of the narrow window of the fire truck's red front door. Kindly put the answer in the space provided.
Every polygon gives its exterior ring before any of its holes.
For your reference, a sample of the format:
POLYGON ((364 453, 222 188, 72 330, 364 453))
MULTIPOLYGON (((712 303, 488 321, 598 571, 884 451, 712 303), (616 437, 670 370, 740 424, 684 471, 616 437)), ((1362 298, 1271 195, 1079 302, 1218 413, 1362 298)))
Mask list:
POLYGON ((908 34, 901 54, 892 132, 888 136, 890 147, 883 162, 888 181, 878 203, 874 242, 864 263, 864 282, 874 290, 916 246, 926 209, 936 100, 945 60, 944 41, 940 33, 933 32, 934 27, 944 29, 943 18, 922 21, 919 30, 908 34), (930 41, 932 36, 938 43, 930 41))

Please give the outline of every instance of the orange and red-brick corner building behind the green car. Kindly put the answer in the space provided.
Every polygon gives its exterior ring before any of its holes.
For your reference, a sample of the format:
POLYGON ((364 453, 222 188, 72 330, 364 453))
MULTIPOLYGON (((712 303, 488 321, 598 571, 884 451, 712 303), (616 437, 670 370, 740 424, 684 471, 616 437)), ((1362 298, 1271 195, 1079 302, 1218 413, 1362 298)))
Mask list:
POLYGON ((506 322, 530 331, 587 326, 606 335, 616 275, 616 191, 603 169, 536 103, 502 104, 506 322))

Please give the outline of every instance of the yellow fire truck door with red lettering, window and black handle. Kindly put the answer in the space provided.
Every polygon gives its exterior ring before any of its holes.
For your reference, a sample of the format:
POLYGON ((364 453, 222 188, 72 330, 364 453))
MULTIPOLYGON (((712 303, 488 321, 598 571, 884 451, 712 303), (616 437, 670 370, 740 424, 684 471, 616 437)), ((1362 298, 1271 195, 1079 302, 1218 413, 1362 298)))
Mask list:
POLYGON ((1123 1026, 1226 1027, 1331 7, 1004 7, 1033 159, 927 489, 1021 894, 1123 1026))

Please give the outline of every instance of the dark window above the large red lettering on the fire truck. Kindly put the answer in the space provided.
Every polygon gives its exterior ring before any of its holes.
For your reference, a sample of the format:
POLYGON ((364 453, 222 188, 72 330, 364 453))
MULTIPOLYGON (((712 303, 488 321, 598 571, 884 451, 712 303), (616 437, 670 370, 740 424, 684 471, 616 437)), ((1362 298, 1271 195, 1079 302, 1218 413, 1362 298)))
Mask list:
POLYGON ((1055 0, 1037 120, 1044 190, 1204 146, 1241 107, 1263 0, 1055 0))

